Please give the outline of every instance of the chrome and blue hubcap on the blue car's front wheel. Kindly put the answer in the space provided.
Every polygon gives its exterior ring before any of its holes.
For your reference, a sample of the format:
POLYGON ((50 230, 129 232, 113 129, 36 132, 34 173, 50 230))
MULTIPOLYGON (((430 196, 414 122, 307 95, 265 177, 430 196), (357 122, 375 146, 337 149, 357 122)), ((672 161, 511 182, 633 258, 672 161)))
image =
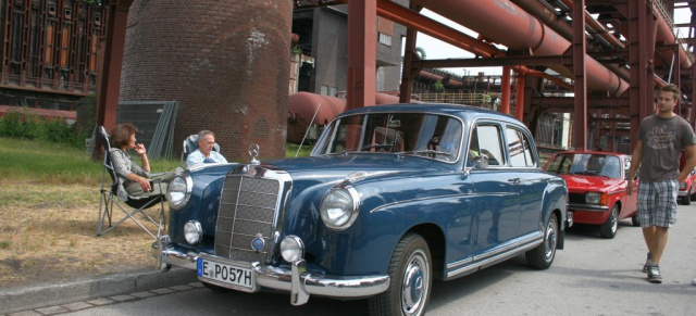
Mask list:
POLYGON ((411 254, 401 287, 401 309, 406 315, 419 315, 425 300, 426 285, 430 276, 427 262, 422 252, 411 254))

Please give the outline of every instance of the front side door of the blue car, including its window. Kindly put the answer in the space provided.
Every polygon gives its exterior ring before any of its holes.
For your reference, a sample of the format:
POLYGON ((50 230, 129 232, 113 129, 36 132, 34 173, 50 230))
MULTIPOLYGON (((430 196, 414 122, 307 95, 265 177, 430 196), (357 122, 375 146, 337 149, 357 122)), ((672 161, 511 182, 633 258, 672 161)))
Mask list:
MULTIPOLYGON (((487 166, 474 165, 471 180, 475 191, 474 260, 485 260, 497 254, 518 235, 519 193, 517 176, 510 167, 504 150, 502 127, 495 123, 478 122, 472 129, 469 160, 488 162, 487 166)), ((468 161, 468 164, 471 162, 468 161)))

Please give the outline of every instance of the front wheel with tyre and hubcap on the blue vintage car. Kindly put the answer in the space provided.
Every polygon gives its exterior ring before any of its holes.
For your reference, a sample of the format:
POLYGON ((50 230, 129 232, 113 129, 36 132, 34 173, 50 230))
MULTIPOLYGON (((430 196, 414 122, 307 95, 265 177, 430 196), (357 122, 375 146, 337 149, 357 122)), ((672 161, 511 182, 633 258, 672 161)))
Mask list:
POLYGON ((389 262, 389 288, 370 298, 370 315, 423 315, 433 282, 431 263, 425 239, 415 233, 406 235, 389 262))

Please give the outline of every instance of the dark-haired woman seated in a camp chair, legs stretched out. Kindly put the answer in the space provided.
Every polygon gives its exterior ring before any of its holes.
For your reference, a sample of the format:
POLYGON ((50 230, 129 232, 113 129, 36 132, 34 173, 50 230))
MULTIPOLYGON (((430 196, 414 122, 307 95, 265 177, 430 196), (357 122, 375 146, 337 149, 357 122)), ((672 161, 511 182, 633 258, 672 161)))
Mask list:
POLYGON ((111 151, 109 157, 113 164, 114 172, 119 175, 119 200, 126 201, 128 195, 149 197, 165 194, 169 182, 184 169, 177 167, 160 177, 160 182, 151 181, 150 163, 147 151, 142 143, 136 143, 135 134, 138 128, 130 123, 122 123, 111 130, 111 151), (140 156, 142 166, 136 164, 126 151, 134 149, 140 156))

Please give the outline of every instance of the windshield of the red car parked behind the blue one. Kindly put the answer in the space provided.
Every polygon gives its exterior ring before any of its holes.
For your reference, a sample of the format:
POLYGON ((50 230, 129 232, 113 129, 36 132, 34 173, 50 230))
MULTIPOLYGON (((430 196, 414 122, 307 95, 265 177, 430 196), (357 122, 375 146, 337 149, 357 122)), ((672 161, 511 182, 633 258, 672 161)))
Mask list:
POLYGON ((551 160, 547 172, 570 175, 591 175, 621 178, 621 161, 618 156, 606 154, 559 154, 551 160))

